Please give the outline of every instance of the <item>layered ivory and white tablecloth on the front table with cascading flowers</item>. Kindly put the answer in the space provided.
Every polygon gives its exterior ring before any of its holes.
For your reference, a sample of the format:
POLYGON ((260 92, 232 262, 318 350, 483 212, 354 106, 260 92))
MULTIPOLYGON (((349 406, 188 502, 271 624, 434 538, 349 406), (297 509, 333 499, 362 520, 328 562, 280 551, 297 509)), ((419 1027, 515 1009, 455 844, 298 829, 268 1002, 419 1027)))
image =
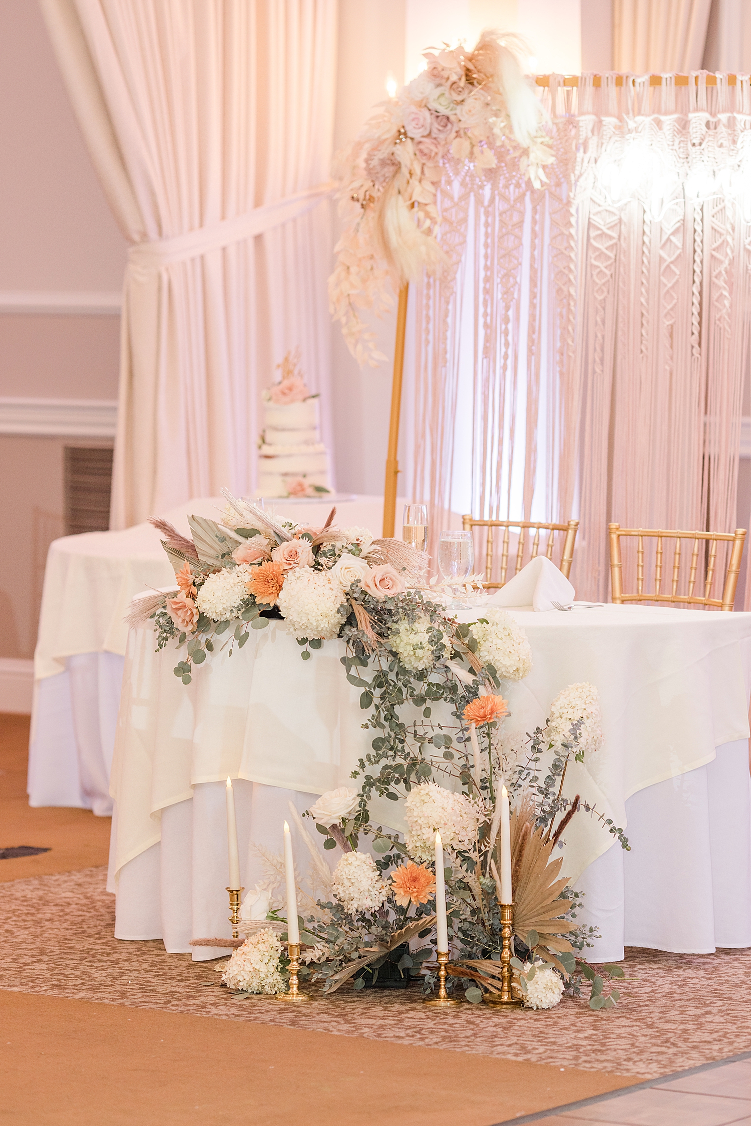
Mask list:
MULTIPOLYGON (((604 748, 570 768, 566 792, 622 825, 632 851, 584 812, 566 831, 566 874, 588 893, 579 921, 602 936, 592 957, 623 957, 624 942, 696 953, 751 946, 751 615, 509 613, 527 631, 534 668, 504 688, 504 745, 520 745, 566 685, 589 680, 601 696, 604 748)), ((241 857, 251 841, 279 851, 287 801, 302 811, 312 795, 351 785, 373 732, 361 729, 367 713, 345 678, 341 642, 303 662, 295 638, 272 623, 232 658, 215 653, 189 686, 172 672, 175 652, 153 650, 150 629, 129 634, 109 888, 119 938, 162 937, 169 950, 188 951, 191 938, 229 935, 227 775, 238 779, 241 857)), ((401 828, 393 802, 373 816, 401 828)), ((295 846, 304 867, 305 849, 295 846)), ((251 848, 244 886, 262 875, 251 848)))

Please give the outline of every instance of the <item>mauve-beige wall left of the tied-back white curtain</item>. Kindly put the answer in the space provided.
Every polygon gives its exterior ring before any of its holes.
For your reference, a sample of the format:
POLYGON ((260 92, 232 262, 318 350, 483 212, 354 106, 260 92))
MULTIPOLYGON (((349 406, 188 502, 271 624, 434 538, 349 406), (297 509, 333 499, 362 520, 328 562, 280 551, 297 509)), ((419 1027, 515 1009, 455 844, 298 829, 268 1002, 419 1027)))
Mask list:
MULTIPOLYGON (((0 2, 0 291, 118 291, 119 233, 36 0, 0 2)), ((117 316, 0 314, 0 396, 115 399, 117 316)), ((64 438, 0 436, 0 658, 34 653, 64 438)))

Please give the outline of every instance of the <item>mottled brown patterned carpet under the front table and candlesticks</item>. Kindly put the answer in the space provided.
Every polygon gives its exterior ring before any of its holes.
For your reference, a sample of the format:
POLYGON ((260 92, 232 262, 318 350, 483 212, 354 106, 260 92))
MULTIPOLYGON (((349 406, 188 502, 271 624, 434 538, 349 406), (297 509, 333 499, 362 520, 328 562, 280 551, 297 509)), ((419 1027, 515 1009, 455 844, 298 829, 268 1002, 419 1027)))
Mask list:
POLYGON ((292 1007, 206 988, 217 964, 166 954, 161 941, 115 939, 105 878, 89 868, 0 885, 0 989, 647 1078, 751 1051, 751 950, 631 949, 622 1002, 605 1012, 570 999, 546 1012, 436 1012, 417 989, 349 985, 292 1007))

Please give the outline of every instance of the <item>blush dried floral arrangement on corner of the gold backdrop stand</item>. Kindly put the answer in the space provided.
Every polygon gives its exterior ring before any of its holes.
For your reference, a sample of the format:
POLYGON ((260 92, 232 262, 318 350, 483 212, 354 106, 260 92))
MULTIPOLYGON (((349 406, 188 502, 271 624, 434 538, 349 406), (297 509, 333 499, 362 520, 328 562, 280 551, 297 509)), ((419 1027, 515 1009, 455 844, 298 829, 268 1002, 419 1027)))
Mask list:
POLYGON ((474 51, 426 51, 427 69, 382 102, 338 158, 347 227, 329 296, 358 363, 385 359, 360 311, 383 313, 391 282, 403 285, 446 263, 437 196, 447 173, 482 173, 495 168, 500 150, 511 150, 535 187, 546 179, 552 144, 518 48, 512 35, 483 32, 474 51))

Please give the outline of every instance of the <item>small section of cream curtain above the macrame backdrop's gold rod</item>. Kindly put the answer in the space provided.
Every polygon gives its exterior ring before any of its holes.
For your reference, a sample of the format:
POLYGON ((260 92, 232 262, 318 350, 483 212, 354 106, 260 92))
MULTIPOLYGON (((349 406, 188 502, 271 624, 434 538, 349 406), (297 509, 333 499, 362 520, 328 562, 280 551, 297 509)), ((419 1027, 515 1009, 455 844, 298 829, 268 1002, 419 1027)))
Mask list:
POLYGON ((698 70, 712 0, 615 0, 614 66, 636 74, 698 70))

